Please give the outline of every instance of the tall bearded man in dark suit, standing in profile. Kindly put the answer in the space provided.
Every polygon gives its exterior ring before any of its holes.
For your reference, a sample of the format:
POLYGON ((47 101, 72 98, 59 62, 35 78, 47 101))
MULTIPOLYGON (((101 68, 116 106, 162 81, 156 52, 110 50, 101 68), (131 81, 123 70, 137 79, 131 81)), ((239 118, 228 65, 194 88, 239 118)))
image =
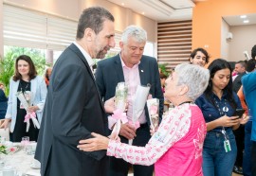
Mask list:
POLYGON ((55 63, 48 87, 35 155, 42 175, 105 175, 106 151, 83 152, 77 145, 91 138, 91 132, 107 135, 107 119, 91 67, 92 58, 103 58, 115 46, 114 35, 114 17, 109 11, 82 11, 76 42, 55 63))

